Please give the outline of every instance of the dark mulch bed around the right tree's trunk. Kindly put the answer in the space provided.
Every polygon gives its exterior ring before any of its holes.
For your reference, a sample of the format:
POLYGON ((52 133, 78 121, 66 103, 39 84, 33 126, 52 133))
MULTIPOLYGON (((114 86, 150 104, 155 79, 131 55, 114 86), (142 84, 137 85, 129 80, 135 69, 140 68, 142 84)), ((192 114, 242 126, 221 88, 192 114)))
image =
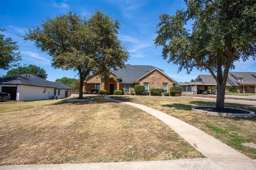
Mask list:
POLYGON ((195 109, 218 112, 218 113, 233 113, 233 114, 249 114, 250 113, 249 111, 232 109, 232 108, 216 109, 215 107, 196 107, 195 109))

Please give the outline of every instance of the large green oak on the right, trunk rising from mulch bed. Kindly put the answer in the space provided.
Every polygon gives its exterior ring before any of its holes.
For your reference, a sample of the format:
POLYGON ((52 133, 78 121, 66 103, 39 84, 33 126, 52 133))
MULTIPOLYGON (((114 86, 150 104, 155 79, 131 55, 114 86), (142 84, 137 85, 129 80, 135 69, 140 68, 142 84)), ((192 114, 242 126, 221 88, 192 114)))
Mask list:
POLYGON ((254 0, 185 0, 187 10, 161 14, 156 46, 163 46, 168 63, 189 74, 208 70, 217 82, 216 108, 224 108, 228 71, 234 62, 256 58, 256 3, 254 0), (194 21, 192 30, 186 29, 194 21))

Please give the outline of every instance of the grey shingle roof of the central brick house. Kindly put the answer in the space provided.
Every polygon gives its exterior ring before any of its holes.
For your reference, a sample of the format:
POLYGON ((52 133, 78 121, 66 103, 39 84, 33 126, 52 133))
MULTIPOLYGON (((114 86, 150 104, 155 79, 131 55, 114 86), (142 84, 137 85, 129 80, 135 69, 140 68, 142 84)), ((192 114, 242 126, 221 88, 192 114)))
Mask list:
MULTIPOLYGON (((125 68, 118 68, 117 70, 111 70, 111 72, 113 72, 114 74, 122 78, 120 82, 133 83, 155 69, 159 70, 168 78, 170 78, 170 76, 164 73, 164 70, 154 66, 148 66, 148 65, 126 64, 125 68)), ((170 79, 173 80, 172 78, 170 79)), ((173 81, 176 82, 175 80, 173 81)))

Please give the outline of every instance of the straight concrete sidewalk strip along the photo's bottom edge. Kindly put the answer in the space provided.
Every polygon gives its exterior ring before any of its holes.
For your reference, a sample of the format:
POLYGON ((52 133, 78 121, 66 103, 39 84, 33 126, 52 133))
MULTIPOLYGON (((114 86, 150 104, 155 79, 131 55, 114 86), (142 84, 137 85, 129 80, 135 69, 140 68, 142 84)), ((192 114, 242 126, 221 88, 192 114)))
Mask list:
POLYGON ((91 164, 47 164, 0 166, 0 170, 253 170, 255 160, 183 159, 91 164))

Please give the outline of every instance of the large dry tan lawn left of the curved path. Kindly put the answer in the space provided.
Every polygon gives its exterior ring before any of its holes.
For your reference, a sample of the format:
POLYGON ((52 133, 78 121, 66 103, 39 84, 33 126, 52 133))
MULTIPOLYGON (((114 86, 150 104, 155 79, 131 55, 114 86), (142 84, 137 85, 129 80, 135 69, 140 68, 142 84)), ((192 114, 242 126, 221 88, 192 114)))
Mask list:
POLYGON ((0 104, 0 165, 204 157, 148 113, 94 99, 31 108, 0 104))

